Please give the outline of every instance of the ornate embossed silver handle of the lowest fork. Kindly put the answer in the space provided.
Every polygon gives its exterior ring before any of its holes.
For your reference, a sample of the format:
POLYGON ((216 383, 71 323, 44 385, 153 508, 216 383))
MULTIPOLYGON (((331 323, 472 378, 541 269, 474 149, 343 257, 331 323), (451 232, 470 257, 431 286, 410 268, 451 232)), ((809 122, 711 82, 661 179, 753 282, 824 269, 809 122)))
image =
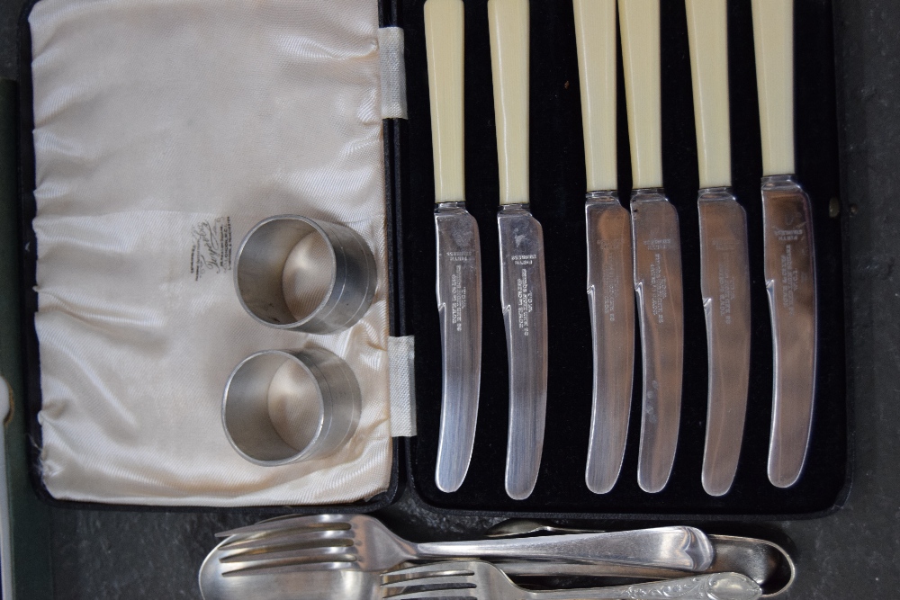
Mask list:
POLYGON ((531 600, 615 600, 617 598, 679 598, 680 600, 756 600, 759 585, 740 573, 713 573, 620 587, 594 587, 552 592, 530 592, 531 600))

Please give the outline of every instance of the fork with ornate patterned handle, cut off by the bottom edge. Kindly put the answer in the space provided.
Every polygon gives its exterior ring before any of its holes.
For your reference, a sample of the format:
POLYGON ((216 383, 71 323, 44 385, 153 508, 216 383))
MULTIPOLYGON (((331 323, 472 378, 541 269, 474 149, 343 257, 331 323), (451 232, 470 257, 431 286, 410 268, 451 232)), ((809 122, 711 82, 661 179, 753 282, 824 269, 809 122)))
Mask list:
POLYGON ((385 600, 614 600, 680 598, 681 600, 756 600, 759 585, 740 573, 713 573, 631 586, 529 591, 514 584, 500 569, 481 560, 451 560, 385 573, 385 600), (399 593, 393 594, 397 591, 399 593))

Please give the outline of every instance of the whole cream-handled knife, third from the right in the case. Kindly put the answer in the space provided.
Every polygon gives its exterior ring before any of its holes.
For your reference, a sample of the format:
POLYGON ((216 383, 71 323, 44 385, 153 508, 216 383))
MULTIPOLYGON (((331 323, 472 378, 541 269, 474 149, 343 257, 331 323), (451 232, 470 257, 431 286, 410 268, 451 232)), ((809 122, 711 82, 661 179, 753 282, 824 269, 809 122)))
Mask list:
POLYGON ((678 213, 662 191, 660 0, 619 0, 633 187, 632 245, 644 361, 638 485, 669 481, 681 415, 684 311, 678 213))

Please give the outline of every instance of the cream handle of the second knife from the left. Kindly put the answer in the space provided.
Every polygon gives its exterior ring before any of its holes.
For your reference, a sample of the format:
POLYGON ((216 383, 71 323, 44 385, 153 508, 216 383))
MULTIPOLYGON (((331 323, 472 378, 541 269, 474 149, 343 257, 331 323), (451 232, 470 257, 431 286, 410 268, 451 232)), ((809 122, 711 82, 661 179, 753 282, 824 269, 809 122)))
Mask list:
POLYGON ((528 0, 488 0, 500 204, 528 201, 528 0))

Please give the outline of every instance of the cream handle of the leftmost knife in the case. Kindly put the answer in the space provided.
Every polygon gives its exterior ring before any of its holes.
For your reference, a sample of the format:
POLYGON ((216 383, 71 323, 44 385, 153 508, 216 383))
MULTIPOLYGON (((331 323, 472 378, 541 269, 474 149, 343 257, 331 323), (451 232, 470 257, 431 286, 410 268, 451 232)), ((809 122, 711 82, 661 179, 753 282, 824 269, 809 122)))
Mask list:
POLYGON ((425 3, 436 202, 465 200, 463 31, 463 0, 428 0, 425 3))

